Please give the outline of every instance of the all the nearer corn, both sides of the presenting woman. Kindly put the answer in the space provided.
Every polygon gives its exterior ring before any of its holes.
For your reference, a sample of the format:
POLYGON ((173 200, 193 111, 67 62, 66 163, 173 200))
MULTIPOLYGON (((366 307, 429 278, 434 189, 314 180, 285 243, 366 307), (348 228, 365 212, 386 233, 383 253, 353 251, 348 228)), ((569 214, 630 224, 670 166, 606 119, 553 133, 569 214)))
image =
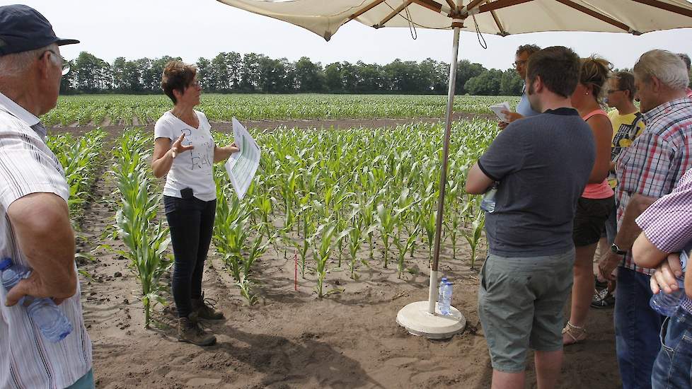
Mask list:
MULTIPOLYGON (((481 245, 480 198, 465 194, 468 168, 497 134, 495 122, 455 122, 449 157, 443 239, 451 255, 465 241, 474 266, 481 245), (463 239, 461 239, 463 237, 463 239)), ((79 139, 51 137, 49 144, 68 175, 71 208, 82 204, 93 180, 93 159, 104 133, 79 139), (74 189, 72 189, 74 187, 74 189)), ((233 193, 222 164, 215 166, 217 212, 212 243, 248 305, 258 301, 258 263, 296 259, 302 281, 317 298, 341 293, 330 273, 347 272, 356 281, 363 270, 396 269, 399 278, 413 258, 432 257, 442 124, 409 124, 394 129, 340 131, 279 128, 253 133, 263 148, 260 168, 246 197, 233 193), (275 255, 268 255, 275 252, 275 255)), ((229 134, 216 133, 217 144, 229 134)), ((171 269, 170 237, 161 212, 161 183, 151 175, 153 139, 131 128, 116 140, 108 178, 117 192, 113 236, 127 250, 129 269, 141 286, 145 325, 151 307, 163 302, 161 278, 171 269)))

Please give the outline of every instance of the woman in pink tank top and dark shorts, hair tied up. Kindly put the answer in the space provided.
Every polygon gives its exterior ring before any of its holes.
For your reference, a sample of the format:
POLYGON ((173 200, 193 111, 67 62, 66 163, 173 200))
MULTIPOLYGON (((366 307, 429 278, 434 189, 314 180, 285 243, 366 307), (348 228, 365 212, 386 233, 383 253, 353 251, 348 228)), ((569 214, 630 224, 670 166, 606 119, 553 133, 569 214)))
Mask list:
POLYGON ((608 172, 611 161, 613 126, 601 109, 601 93, 608 80, 611 64, 597 57, 582 58, 579 83, 572 94, 572 106, 579 111, 594 133, 596 161, 589 183, 577 202, 572 238, 575 241, 575 278, 572 284, 570 320, 563 330, 563 344, 582 342, 584 328, 594 296, 594 254, 615 199, 608 172))

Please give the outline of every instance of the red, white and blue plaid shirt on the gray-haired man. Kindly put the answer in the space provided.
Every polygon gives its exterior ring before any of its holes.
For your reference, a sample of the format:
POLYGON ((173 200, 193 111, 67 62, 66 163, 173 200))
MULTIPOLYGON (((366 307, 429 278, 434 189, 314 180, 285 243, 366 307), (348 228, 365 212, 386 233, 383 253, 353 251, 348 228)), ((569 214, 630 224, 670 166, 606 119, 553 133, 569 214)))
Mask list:
MULTIPOLYGON (((692 100, 679 98, 644 114, 646 129, 618 161, 618 231, 633 194, 663 197, 692 167, 692 100)), ((628 269, 652 274, 653 269, 635 265, 630 252, 623 263, 628 269)))

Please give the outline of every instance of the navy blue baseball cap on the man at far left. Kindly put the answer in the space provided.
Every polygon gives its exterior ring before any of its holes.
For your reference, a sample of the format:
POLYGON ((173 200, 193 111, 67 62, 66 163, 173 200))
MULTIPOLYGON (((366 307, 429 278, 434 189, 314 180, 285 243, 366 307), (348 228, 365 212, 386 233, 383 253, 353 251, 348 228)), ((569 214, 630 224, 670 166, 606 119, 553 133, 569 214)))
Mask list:
POLYGON ((55 36, 53 26, 34 8, 22 4, 0 7, 0 55, 28 52, 53 43, 72 45, 79 40, 55 36))

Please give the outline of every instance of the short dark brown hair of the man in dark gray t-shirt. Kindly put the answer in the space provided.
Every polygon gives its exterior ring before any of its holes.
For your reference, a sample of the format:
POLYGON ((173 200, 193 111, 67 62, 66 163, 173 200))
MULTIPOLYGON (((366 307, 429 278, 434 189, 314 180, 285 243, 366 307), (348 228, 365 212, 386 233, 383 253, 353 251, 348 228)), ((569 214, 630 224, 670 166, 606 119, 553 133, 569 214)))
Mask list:
POLYGON ((557 95, 568 98, 579 82, 579 56, 564 46, 546 47, 529 57, 526 80, 529 86, 540 76, 543 85, 557 95))

